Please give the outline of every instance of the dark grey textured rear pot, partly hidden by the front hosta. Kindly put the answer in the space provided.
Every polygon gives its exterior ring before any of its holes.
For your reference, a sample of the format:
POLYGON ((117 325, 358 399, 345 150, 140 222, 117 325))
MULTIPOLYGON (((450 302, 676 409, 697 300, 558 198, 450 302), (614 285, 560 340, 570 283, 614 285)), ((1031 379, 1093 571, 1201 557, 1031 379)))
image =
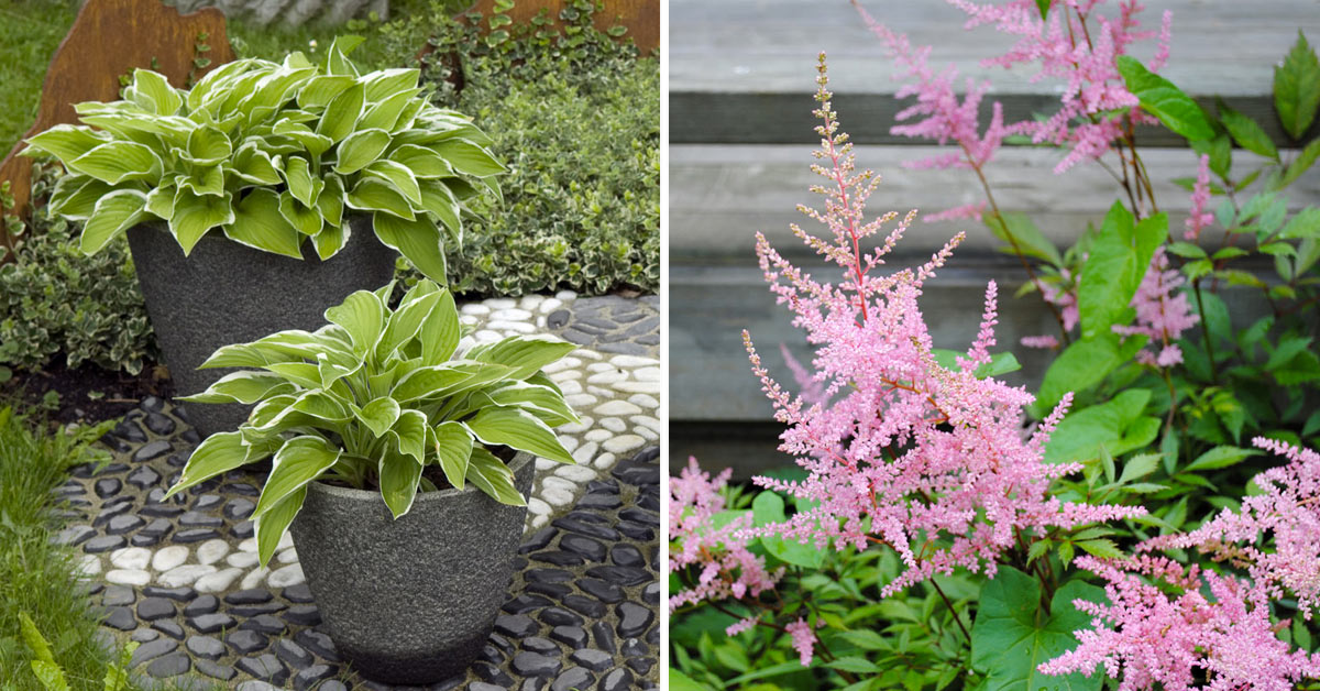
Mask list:
MULTIPOLYGON (((205 391, 230 369, 198 370, 215 349, 286 329, 315 330, 325 310, 354 291, 389 283, 397 254, 376 239, 370 217, 354 217, 343 250, 322 262, 312 243, 304 259, 263 252, 213 230, 189 256, 162 223, 128 229, 137 280, 180 395, 205 391)), ((202 436, 236 429, 249 407, 187 406, 202 436)))

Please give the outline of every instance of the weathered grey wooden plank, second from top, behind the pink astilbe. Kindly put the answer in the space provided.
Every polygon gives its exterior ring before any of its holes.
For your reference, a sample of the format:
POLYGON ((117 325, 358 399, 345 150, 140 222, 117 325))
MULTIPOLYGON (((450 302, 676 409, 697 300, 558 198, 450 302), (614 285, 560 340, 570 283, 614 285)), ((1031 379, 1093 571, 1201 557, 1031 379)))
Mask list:
MULTIPOLYGON (((855 118, 841 111, 845 129, 855 118)), ((820 178, 809 170, 812 145, 672 145, 669 147, 669 256, 688 260, 750 260, 754 233, 763 231, 781 250, 801 247, 789 223, 814 226, 795 209, 818 203, 807 192, 820 178)), ((858 147, 861 168, 883 176, 870 200, 873 214, 909 209, 933 214, 950 206, 983 200, 979 182, 968 170, 908 170, 902 161, 940 152, 937 147, 858 147)), ((1284 156, 1295 156, 1286 151, 1284 156)), ((990 164, 986 174, 1005 211, 1023 211, 1059 244, 1073 242, 1088 222, 1096 222, 1121 194, 1114 180, 1097 165, 1080 165, 1063 174, 1051 170, 1060 155, 1048 149, 1008 148, 990 164)), ((1189 196, 1171 182, 1195 174, 1196 159, 1188 149, 1155 148, 1143 152, 1155 198, 1170 213, 1172 227, 1181 229, 1189 196)), ((1237 152, 1234 165, 1249 170, 1262 161, 1237 152)), ((1237 169, 1237 168, 1236 168, 1237 169)), ((1320 203, 1320 169, 1312 169, 1288 189, 1294 207, 1320 203)), ((979 223, 970 221, 925 223, 917 221, 899 244, 906 255, 928 255, 957 231, 968 239, 960 256, 993 254, 998 242, 979 223)))

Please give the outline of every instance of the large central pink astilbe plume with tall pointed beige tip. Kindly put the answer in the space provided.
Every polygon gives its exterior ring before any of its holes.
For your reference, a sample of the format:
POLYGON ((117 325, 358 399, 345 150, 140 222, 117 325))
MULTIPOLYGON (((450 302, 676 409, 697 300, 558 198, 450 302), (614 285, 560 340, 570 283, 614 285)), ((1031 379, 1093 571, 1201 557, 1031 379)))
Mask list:
POLYGON ((1044 444, 1071 396, 1031 439, 1023 439, 1023 407, 1032 396, 1020 387, 974 377, 977 366, 990 361, 994 346, 993 283, 981 330, 956 369, 935 361, 917 297, 961 235, 920 267, 870 275, 884 264, 915 211, 879 248, 862 250, 862 242, 895 214, 863 219, 878 180, 871 170, 855 170, 853 148, 838 132, 824 54, 820 73, 816 115, 824 124, 817 127, 821 149, 816 157, 828 165, 813 170, 826 180, 814 188, 825 197, 825 210, 801 210, 825 225, 832 236, 814 236, 797 226, 793 233, 837 264, 842 281, 813 280, 760 234, 756 252, 771 292, 789 305, 793 324, 817 346, 812 365, 832 396, 830 406, 804 410, 800 396, 771 379, 744 333, 752 370, 776 408, 776 419, 788 425, 780 449, 809 473, 801 482, 764 477, 755 482, 820 503, 784 525, 750 528, 744 535, 777 534, 822 547, 833 543, 840 550, 887 544, 907 565, 884 587, 883 593, 891 595, 958 567, 993 575, 997 560, 1020 536, 1143 513, 1139 507, 1085 506, 1049 497, 1055 478, 1081 470, 1080 464, 1043 461, 1044 444))

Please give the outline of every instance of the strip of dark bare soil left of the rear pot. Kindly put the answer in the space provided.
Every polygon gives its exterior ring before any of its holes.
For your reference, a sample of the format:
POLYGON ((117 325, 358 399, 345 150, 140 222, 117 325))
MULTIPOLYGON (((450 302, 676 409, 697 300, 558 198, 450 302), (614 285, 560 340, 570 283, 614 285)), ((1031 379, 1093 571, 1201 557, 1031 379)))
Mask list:
POLYGON ((61 358, 40 371, 15 371, 0 384, 0 400, 45 411, 59 423, 99 423, 123 418, 147 396, 169 398, 174 384, 165 367, 147 366, 140 374, 108 371, 92 363, 70 370, 61 358))

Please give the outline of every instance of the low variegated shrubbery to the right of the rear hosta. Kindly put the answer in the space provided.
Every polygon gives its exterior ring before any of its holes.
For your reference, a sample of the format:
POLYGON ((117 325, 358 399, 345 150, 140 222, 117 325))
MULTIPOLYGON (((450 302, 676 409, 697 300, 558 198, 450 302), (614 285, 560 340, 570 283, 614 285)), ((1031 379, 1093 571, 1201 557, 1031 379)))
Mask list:
POLYGON ((504 15, 457 22, 441 13, 381 30, 399 59, 430 37, 433 99, 473 114, 510 166, 504 205, 474 219, 451 258, 458 292, 660 287, 659 61, 597 30, 593 13, 591 3, 570 3, 562 32, 545 17, 513 25, 504 15), (504 33, 486 36, 479 22, 504 33))

